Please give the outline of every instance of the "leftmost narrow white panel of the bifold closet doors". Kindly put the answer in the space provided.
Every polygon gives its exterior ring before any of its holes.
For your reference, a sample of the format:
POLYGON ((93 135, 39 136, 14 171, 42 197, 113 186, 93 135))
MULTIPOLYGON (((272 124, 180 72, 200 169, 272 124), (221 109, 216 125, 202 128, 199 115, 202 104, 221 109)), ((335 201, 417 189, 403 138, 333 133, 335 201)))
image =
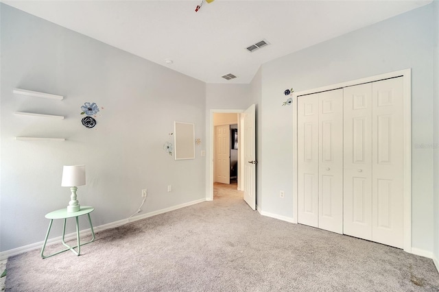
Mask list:
POLYGON ((298 223, 318 227, 318 94, 298 97, 298 223))

